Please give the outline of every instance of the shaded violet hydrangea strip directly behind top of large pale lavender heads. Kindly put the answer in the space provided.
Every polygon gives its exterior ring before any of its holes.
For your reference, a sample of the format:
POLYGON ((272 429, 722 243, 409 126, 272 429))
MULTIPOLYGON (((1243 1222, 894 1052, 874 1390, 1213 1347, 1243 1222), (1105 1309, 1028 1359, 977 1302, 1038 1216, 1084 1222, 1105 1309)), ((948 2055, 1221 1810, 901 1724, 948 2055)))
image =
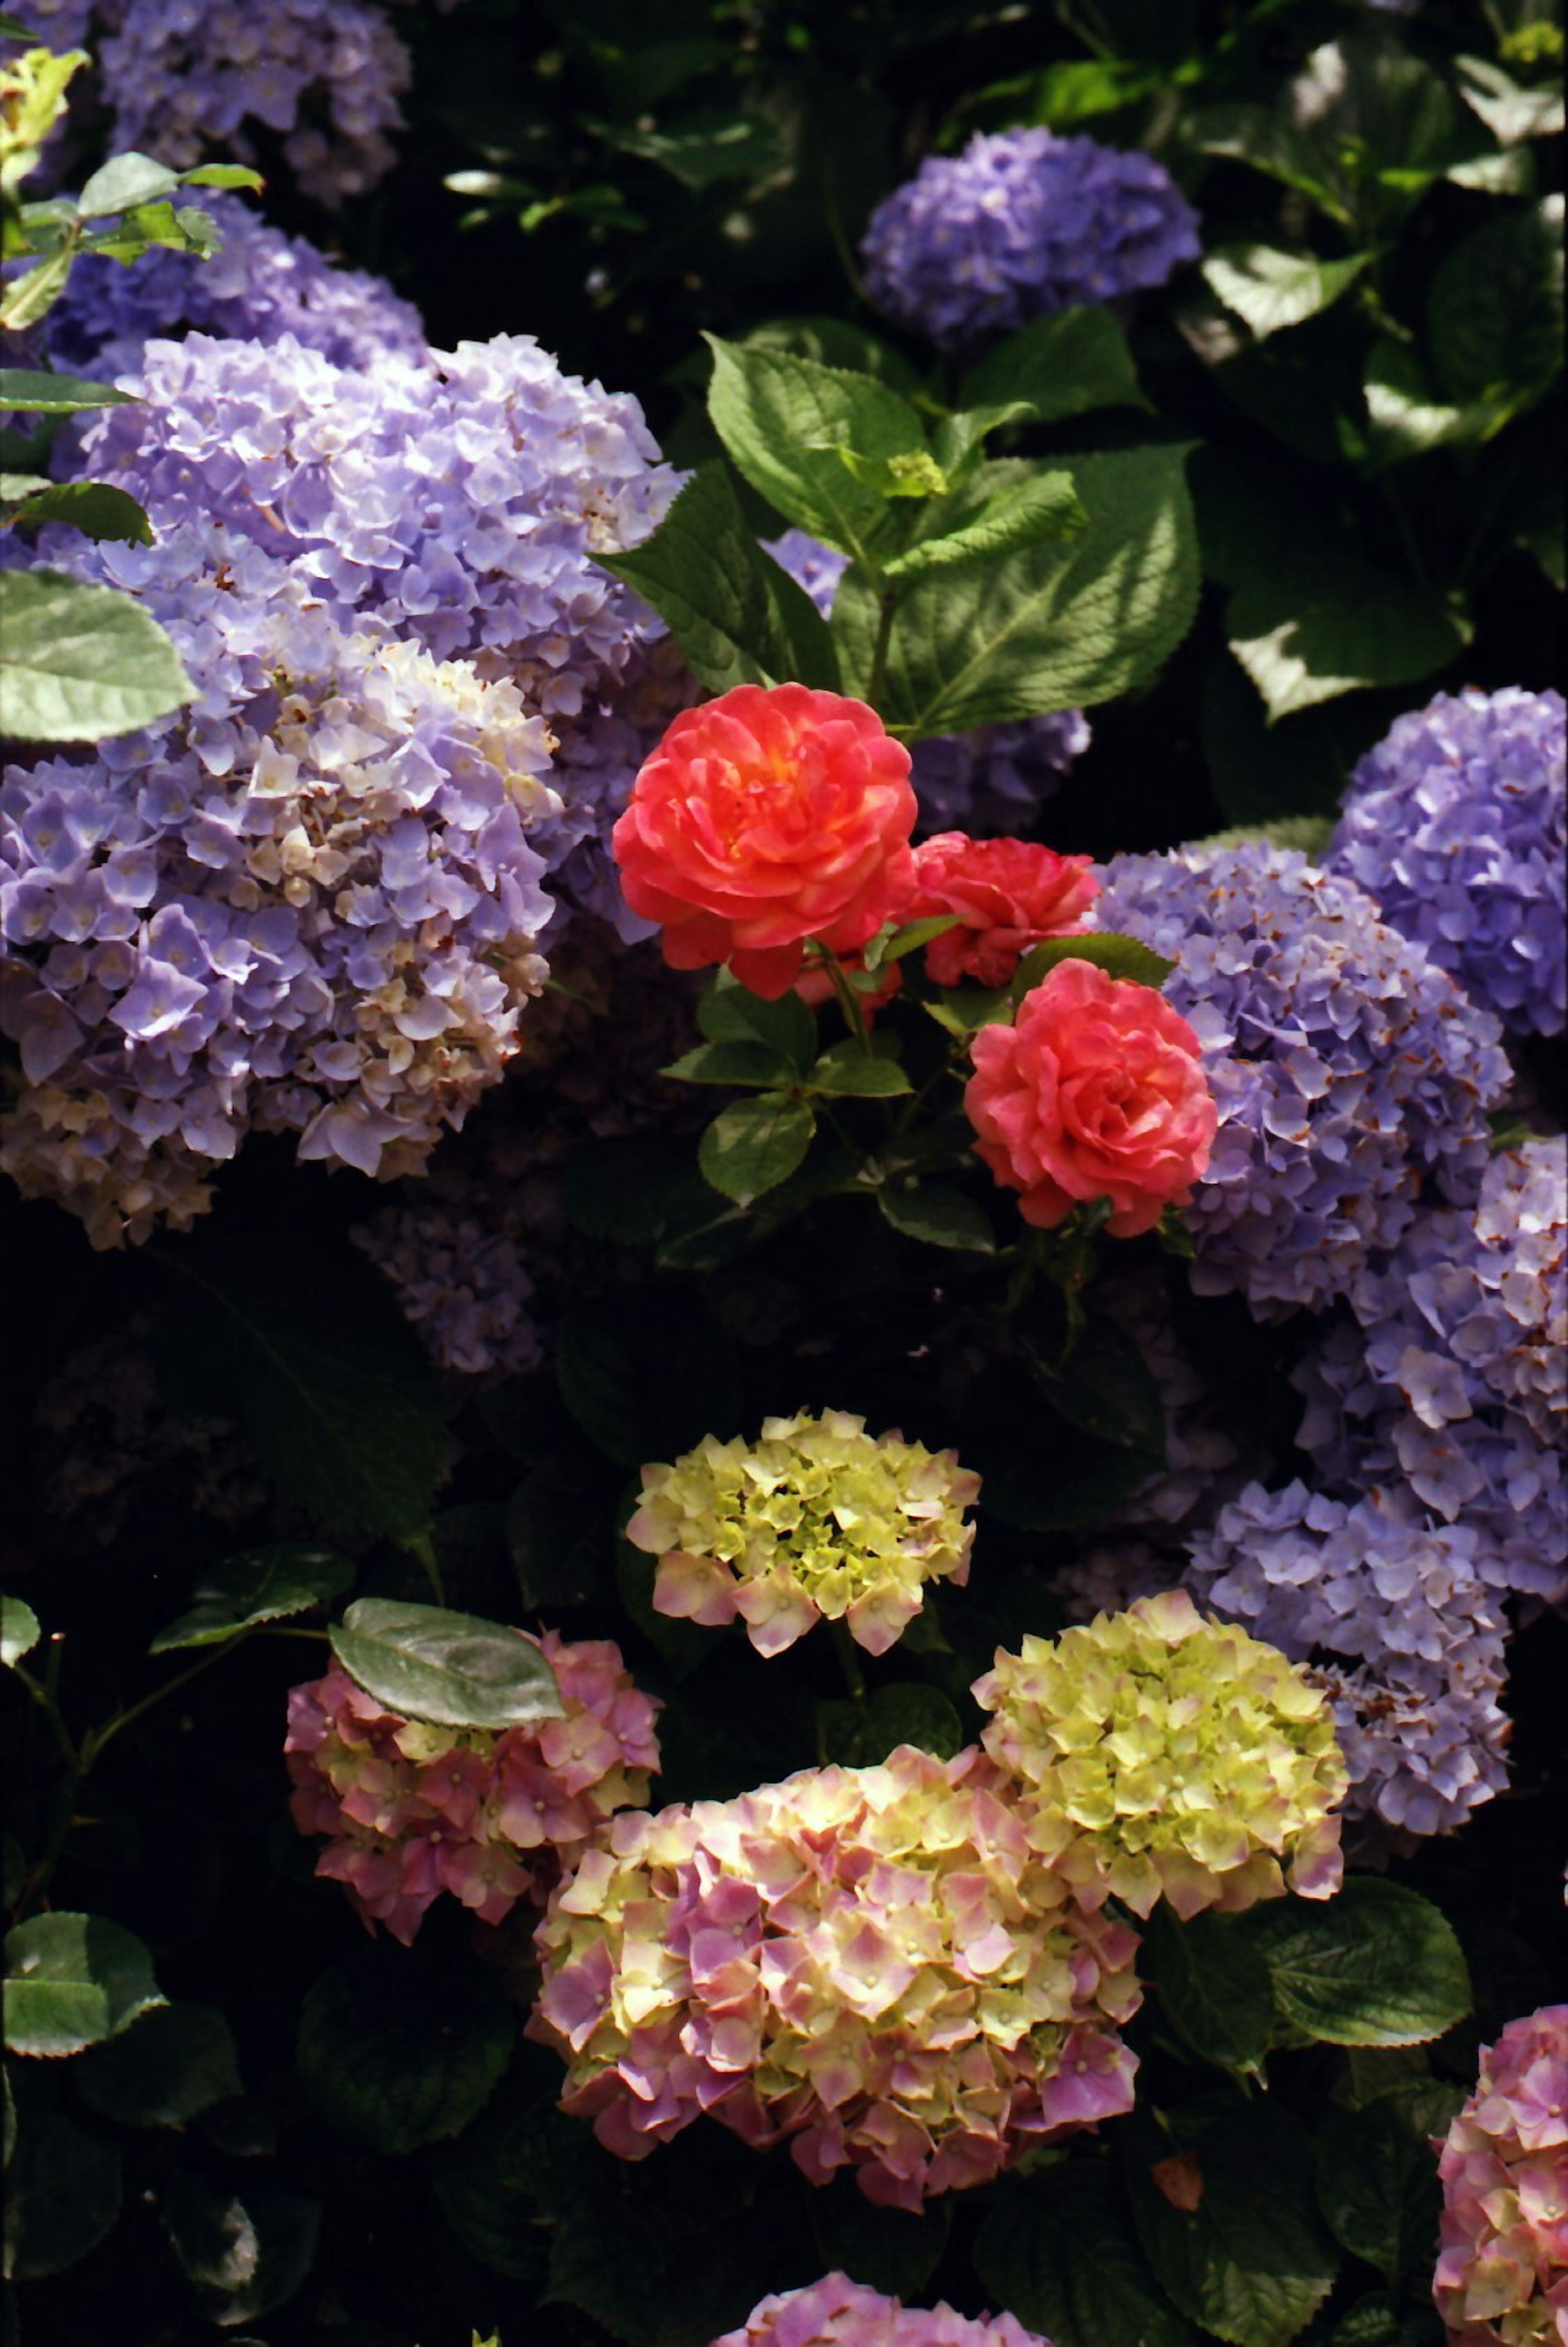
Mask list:
POLYGON ((340 270, 305 237, 286 237, 237 195, 209 190, 202 209, 223 232, 211 261, 150 251, 124 268, 87 253, 47 319, 49 359, 63 373, 136 373, 146 345, 178 333, 277 343, 291 333, 333 366, 425 359, 413 303, 361 270, 340 270))

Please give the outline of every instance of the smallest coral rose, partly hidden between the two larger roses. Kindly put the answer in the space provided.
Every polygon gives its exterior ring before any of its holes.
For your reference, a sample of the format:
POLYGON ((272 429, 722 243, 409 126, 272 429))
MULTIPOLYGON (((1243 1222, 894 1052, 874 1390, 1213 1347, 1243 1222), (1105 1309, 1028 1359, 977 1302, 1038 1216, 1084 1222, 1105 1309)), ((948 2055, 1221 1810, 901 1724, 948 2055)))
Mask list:
POLYGON ((1091 857, 1059 857, 1030 840, 972 840, 939 831, 915 847, 915 894, 904 920, 958 913, 960 927, 934 936, 925 967, 937 986, 979 979, 1007 986, 1042 936, 1075 936, 1099 897, 1091 857))

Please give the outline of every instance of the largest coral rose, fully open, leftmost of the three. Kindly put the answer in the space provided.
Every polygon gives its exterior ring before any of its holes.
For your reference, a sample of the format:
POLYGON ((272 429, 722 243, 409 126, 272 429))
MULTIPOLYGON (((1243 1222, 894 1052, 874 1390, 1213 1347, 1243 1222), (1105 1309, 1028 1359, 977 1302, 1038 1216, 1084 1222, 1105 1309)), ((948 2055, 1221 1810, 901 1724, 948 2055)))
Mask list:
POLYGON ((737 685, 685 709, 615 824, 627 904, 664 927, 674 969, 728 962, 777 1000, 803 941, 854 953, 913 878, 908 751, 864 702, 737 685))

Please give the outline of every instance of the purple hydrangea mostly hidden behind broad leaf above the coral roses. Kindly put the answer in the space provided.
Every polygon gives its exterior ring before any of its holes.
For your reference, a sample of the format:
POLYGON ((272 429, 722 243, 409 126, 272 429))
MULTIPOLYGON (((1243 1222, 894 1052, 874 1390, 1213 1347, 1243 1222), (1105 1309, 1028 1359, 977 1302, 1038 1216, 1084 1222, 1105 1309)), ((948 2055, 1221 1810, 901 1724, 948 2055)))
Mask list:
MULTIPOLYGON (((807 530, 784 530, 765 545, 826 620, 850 556, 824 547, 807 530)), ((1082 709, 1054 709, 1014 725, 979 725, 967 735, 913 742, 908 779, 920 805, 915 828, 967 831, 969 838, 1028 828, 1087 749, 1089 721, 1082 709)))

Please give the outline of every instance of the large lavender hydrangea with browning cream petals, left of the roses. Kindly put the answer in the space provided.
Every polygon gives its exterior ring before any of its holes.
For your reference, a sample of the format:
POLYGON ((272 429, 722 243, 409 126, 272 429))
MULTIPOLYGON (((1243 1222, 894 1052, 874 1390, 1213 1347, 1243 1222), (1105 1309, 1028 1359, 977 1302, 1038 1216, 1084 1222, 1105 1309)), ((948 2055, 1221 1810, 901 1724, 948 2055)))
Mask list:
POLYGON ((49 556, 134 589, 197 678, 167 728, 0 779, 0 1162, 99 1246, 183 1227, 251 1124, 392 1178, 516 1049, 554 807, 521 695, 347 636, 223 526, 49 556))

